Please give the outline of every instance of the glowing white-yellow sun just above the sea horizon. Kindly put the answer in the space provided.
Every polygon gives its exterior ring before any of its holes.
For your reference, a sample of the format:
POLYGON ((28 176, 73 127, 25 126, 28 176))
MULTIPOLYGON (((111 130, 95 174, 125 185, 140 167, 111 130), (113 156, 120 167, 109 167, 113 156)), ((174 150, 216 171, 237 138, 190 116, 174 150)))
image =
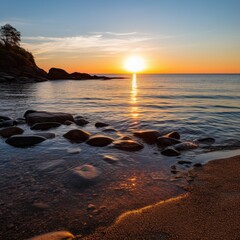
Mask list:
POLYGON ((131 72, 142 72, 146 68, 144 59, 141 56, 130 56, 124 61, 124 68, 131 72))

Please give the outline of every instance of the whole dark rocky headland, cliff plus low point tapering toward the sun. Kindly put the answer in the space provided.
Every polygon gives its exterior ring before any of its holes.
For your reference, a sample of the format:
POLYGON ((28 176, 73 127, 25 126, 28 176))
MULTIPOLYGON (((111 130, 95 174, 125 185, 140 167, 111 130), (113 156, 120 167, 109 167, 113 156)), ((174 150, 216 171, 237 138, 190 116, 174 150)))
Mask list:
POLYGON ((4 45, 0 42, 0 83, 19 81, 43 82, 49 80, 109 80, 122 77, 106 77, 90 75, 88 73, 68 73, 63 69, 51 68, 45 72, 39 68, 33 55, 18 45, 4 45))

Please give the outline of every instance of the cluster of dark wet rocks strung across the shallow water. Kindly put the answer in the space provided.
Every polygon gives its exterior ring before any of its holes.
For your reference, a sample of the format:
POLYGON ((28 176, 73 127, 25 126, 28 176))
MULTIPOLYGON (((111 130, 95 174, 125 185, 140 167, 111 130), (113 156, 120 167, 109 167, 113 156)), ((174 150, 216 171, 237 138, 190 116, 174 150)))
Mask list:
MULTIPOLYGON (((201 144, 212 144, 215 141, 213 138, 201 138, 195 141, 182 142, 178 132, 161 135, 161 133, 156 130, 133 132, 133 136, 141 139, 141 142, 129 136, 113 139, 107 135, 92 135, 89 132, 79 129, 79 126, 82 127, 89 124, 89 122, 81 116, 73 117, 73 115, 69 113, 53 113, 35 110, 28 110, 25 112, 23 118, 15 120, 7 116, 0 116, 0 136, 7 138, 6 143, 11 146, 29 147, 55 137, 54 133, 41 131, 58 128, 61 125, 69 126, 72 124, 75 124, 77 128, 69 130, 63 135, 63 137, 70 142, 85 142, 94 147, 111 145, 114 148, 125 151, 139 151, 144 148, 142 142, 145 142, 147 144, 156 144, 165 156, 178 156, 181 154, 181 151, 195 149, 201 144), (32 135, 24 134, 24 130, 16 126, 21 124, 27 124, 31 130, 38 130, 38 132, 32 135)), ((103 128, 103 132, 105 133, 117 131, 114 128, 109 128, 107 123, 102 122, 95 123, 95 127, 103 128)))

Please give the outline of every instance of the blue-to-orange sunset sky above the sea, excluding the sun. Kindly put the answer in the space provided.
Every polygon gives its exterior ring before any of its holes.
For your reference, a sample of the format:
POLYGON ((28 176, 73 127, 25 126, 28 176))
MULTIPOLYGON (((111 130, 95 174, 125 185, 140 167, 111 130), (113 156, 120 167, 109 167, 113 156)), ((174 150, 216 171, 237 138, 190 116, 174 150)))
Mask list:
POLYGON ((0 0, 39 67, 124 73, 240 73, 239 0, 0 0))

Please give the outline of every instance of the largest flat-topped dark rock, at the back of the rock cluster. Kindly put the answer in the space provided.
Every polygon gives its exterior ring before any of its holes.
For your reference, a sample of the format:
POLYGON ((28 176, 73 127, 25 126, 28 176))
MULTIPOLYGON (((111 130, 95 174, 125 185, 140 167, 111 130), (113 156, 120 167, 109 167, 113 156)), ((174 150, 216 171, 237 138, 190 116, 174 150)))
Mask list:
POLYGON ((35 123, 42 122, 57 122, 63 124, 65 121, 69 120, 74 122, 73 116, 69 113, 61 112, 32 112, 26 115, 27 123, 32 126, 35 123))

